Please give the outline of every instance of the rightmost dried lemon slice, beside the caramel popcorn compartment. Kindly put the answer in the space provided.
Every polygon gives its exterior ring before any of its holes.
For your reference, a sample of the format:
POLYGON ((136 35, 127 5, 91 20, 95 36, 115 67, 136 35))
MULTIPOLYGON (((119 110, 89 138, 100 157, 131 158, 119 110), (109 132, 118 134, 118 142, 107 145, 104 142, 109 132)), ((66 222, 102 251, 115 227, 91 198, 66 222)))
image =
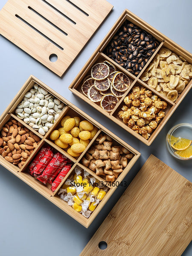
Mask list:
POLYGON ((126 76, 124 73, 117 72, 113 76, 112 85, 115 90, 123 92, 128 90, 128 88, 130 87, 130 80, 128 76, 126 76))

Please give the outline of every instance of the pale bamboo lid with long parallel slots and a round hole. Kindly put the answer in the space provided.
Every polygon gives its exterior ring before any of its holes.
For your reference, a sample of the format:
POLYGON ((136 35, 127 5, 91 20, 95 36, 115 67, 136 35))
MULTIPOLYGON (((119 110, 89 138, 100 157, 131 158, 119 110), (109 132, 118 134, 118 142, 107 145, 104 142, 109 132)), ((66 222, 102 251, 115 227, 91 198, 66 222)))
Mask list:
POLYGON ((62 76, 112 8, 106 0, 9 0, 0 34, 62 76))

